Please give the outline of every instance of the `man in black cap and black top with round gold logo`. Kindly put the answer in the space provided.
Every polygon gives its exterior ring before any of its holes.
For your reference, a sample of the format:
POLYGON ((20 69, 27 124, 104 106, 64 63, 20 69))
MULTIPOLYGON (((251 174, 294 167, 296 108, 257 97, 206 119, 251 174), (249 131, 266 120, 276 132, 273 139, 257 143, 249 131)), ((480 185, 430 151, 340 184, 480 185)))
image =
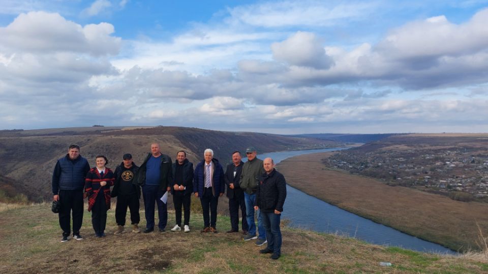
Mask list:
POLYGON ((134 175, 139 167, 132 161, 131 154, 124 154, 123 159, 124 161, 115 168, 115 184, 111 193, 112 197, 117 197, 117 204, 115 205, 117 230, 113 233, 115 235, 124 233, 127 207, 131 211, 132 232, 140 232, 138 225, 141 189, 138 185, 133 184, 134 175))

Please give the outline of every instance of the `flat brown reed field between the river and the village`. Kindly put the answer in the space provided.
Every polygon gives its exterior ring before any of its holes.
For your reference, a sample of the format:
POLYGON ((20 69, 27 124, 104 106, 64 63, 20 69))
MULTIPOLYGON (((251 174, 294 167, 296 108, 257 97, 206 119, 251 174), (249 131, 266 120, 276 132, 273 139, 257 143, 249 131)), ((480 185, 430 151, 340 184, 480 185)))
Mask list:
POLYGON ((454 250, 478 250, 476 222, 488 235, 488 204, 461 202, 326 169, 328 153, 295 156, 279 164, 287 183, 349 212, 454 250))

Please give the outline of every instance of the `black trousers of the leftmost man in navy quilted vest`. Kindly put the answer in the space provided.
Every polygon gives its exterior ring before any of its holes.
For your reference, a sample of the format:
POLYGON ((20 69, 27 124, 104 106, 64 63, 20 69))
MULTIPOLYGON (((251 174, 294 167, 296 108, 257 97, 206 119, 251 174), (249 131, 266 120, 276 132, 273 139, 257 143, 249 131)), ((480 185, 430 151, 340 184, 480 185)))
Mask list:
POLYGON ((83 190, 59 190, 59 226, 63 235, 71 233, 71 213, 73 213, 73 233, 80 232, 83 222, 83 190))

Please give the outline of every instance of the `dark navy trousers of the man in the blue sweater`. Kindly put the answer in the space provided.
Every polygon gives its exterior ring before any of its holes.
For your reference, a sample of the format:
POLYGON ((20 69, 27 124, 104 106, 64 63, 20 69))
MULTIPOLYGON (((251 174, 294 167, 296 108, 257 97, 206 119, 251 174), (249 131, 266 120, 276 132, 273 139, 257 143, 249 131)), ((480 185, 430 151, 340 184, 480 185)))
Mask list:
POLYGON ((158 204, 159 229, 165 229, 168 222, 168 209, 166 203, 161 200, 166 191, 159 186, 143 185, 142 197, 144 198, 144 210, 146 216, 146 228, 154 229, 154 205, 158 204))

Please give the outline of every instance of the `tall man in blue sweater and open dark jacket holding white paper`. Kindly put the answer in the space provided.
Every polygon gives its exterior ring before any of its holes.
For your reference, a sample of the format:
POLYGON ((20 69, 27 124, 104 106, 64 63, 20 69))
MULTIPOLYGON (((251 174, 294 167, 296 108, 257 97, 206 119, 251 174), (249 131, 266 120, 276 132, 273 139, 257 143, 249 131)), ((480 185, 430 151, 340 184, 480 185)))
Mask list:
POLYGON ((166 203, 161 198, 173 185, 171 163, 171 158, 161 153, 159 144, 153 143, 151 144, 151 153, 147 154, 144 162, 139 167, 136 178, 134 178, 136 183, 142 186, 146 217, 146 230, 144 230, 144 233, 154 231, 155 203, 158 204, 159 232, 164 232, 166 228, 168 210, 166 203))

